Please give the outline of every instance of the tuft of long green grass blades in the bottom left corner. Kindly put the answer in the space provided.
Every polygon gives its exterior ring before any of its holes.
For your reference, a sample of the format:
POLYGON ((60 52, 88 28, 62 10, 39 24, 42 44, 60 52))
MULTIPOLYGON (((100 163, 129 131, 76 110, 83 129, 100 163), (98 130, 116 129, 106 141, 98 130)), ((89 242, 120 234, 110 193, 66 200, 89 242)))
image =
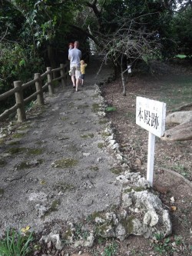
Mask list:
POLYGON ((25 256, 31 252, 32 232, 21 234, 20 231, 7 230, 5 238, 0 241, 1 256, 25 256))

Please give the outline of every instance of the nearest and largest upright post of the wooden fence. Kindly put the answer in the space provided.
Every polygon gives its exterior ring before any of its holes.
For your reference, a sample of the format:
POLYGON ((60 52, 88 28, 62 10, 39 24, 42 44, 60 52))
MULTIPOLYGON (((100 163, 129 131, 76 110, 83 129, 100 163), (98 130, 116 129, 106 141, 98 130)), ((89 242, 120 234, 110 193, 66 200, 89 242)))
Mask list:
POLYGON ((26 120, 25 104, 23 101, 22 81, 14 81, 13 85, 15 88, 19 88, 19 91, 15 92, 15 101, 16 101, 16 105, 18 105, 18 109, 17 109, 18 121, 22 122, 26 120))

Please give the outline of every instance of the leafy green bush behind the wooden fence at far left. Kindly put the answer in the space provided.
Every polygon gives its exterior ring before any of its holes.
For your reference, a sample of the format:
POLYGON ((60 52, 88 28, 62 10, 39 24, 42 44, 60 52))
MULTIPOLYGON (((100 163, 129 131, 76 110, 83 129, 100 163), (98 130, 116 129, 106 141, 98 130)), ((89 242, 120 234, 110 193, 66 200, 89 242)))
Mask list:
MULTIPOLYGON (((16 42, 1 43, 0 54, 0 94, 13 88, 13 81, 30 81, 34 73, 45 71, 42 59, 31 51, 16 42)), ((28 88, 24 91, 24 97, 34 92, 35 88, 28 88)), ((5 108, 15 103, 15 96, 2 101, 5 108)))

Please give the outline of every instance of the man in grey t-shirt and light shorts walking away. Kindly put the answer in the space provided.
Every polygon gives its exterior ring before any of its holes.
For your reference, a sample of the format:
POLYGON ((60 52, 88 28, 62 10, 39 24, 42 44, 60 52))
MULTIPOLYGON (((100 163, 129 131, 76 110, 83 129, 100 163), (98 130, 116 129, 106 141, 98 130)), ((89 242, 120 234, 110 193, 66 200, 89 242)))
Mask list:
POLYGON ((71 70, 71 81, 73 83, 73 88, 75 91, 78 91, 78 85, 81 80, 81 70, 80 70, 80 61, 81 61, 81 51, 78 49, 79 42, 74 42, 74 48, 68 54, 68 59, 70 60, 70 70, 71 70))

